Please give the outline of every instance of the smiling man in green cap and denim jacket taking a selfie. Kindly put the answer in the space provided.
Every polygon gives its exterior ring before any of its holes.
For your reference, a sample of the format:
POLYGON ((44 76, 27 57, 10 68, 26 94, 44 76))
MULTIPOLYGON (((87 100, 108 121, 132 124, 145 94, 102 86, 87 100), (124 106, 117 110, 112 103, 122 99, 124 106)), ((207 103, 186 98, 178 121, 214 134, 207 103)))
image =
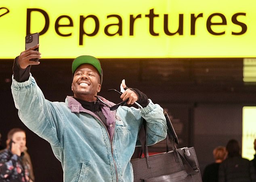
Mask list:
POLYGON ((130 159, 142 121, 149 128, 149 145, 163 140, 167 132, 163 109, 124 82, 126 90, 120 98, 126 104, 138 102, 142 108, 115 105, 98 96, 103 71, 99 60, 89 55, 73 60, 73 96, 65 102, 46 100, 30 74, 31 65, 39 64, 29 61, 41 57, 34 51, 38 46, 14 61, 12 92, 21 121, 50 143, 65 182, 132 182, 130 159))

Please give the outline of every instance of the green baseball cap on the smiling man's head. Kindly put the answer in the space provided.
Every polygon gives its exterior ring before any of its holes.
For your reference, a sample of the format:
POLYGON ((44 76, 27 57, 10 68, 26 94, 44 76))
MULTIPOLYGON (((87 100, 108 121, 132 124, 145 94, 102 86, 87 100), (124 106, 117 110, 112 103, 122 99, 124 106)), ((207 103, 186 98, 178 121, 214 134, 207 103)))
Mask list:
POLYGON ((76 69, 82 64, 93 65, 96 68, 96 70, 99 72, 99 75, 101 77, 101 84, 102 84, 103 71, 102 71, 101 63, 100 63, 99 59, 97 59, 96 57, 90 56, 90 55, 81 55, 81 56, 77 57, 72 62, 72 75, 74 75, 76 69))

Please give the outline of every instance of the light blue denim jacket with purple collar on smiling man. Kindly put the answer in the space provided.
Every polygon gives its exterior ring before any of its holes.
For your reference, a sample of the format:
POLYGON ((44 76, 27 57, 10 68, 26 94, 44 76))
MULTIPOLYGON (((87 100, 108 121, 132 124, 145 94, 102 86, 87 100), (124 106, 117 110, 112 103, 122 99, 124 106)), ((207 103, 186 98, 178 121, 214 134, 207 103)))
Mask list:
POLYGON ((25 82, 13 79, 11 88, 21 121, 50 143, 65 182, 132 182, 130 158, 142 117, 150 128, 149 145, 166 137, 163 109, 151 100, 143 109, 120 106, 110 111, 101 105, 106 127, 72 97, 67 96, 65 102, 46 100, 31 75, 25 82))

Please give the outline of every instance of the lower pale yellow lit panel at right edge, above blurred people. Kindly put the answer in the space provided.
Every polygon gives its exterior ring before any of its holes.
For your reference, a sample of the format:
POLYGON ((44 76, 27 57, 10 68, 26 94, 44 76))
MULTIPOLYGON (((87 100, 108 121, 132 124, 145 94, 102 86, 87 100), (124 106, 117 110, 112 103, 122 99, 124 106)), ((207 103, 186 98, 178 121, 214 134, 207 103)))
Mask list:
POLYGON ((254 139, 256 139, 256 107, 243 107, 242 157, 254 158, 254 139))

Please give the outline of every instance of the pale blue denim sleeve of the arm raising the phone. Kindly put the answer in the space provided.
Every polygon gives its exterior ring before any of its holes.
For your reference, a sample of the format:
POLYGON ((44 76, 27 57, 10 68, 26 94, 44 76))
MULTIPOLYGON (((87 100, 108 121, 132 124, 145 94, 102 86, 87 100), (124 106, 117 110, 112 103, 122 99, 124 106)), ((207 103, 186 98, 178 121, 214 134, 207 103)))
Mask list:
POLYGON ((21 121, 51 145, 61 145, 61 110, 57 104, 44 98, 31 74, 25 82, 17 82, 13 78, 11 89, 21 121))

